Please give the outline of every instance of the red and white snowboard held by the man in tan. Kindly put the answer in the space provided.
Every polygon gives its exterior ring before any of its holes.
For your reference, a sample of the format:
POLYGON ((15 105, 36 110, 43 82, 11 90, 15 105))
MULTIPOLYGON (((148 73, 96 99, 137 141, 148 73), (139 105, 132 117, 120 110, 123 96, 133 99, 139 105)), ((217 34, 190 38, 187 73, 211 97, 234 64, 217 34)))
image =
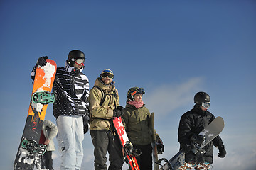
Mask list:
POLYGON ((127 136, 127 133, 124 129, 124 125, 122 123, 122 118, 114 117, 113 124, 114 124, 115 130, 117 131, 119 139, 122 143, 122 148, 124 149, 124 152, 127 156, 130 168, 132 170, 139 170, 139 165, 137 163, 137 160, 135 157, 133 157, 134 155, 132 155, 132 143, 129 142, 129 138, 127 136))

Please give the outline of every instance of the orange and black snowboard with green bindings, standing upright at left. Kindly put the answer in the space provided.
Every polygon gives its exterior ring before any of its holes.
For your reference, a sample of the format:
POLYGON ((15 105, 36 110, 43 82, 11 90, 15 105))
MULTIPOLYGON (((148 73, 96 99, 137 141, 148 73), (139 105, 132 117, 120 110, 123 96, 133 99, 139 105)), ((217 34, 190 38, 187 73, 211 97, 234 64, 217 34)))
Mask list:
POLYGON ((36 155, 46 152, 45 145, 39 145, 39 138, 43 120, 46 115, 48 103, 53 103, 55 98, 51 94, 53 81, 56 73, 56 63, 47 59, 44 67, 36 68, 36 75, 33 82, 31 102, 28 108, 25 128, 18 147, 14 170, 33 169, 36 162, 36 155))

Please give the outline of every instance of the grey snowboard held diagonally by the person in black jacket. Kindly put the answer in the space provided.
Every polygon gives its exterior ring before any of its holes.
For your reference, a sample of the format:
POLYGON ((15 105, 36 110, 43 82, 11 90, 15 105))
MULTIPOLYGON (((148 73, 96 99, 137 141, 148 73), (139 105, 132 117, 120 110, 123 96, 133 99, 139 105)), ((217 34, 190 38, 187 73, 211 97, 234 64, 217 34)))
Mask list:
MULTIPOLYGON (((201 152, 201 154, 205 153, 203 147, 205 147, 210 141, 212 141, 215 137, 217 137, 220 132, 224 129, 224 120, 221 117, 215 118, 209 125, 204 128, 199 135, 203 136, 204 141, 201 145, 193 143, 192 152, 194 154, 201 152)), ((172 157, 169 161, 165 158, 159 159, 159 164, 161 165, 161 161, 166 162, 164 166, 161 167, 160 170, 176 170, 181 165, 185 163, 185 153, 183 149, 181 149, 174 157, 172 157)))

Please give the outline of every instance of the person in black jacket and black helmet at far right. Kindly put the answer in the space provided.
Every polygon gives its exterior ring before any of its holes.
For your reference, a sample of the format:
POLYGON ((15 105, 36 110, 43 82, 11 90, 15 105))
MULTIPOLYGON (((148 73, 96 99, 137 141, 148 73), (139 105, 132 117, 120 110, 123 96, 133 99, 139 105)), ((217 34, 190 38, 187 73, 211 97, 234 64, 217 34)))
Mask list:
POLYGON ((218 156, 225 157, 226 151, 223 141, 218 135, 215 139, 208 143, 203 150, 193 154, 191 139, 197 140, 198 143, 203 142, 203 137, 198 135, 204 127, 215 119, 215 116, 208 111, 210 106, 210 96, 203 91, 198 92, 194 96, 196 103, 191 111, 184 113, 178 127, 178 142, 180 149, 185 152, 185 164, 179 168, 183 169, 212 169, 213 164, 213 145, 218 148, 218 156))

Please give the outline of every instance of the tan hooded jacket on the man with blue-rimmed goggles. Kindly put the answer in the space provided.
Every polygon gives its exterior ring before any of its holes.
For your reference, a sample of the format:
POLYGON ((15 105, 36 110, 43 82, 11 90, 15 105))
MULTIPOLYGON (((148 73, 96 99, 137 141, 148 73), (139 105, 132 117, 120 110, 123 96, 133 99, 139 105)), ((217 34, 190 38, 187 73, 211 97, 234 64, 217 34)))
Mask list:
POLYGON ((114 84, 107 86, 102 84, 99 78, 96 79, 95 86, 90 89, 89 93, 90 130, 112 130, 110 123, 112 123, 113 110, 119 106, 118 91, 114 84), (100 87, 107 94, 102 106, 100 106, 102 91, 95 86, 100 87))

